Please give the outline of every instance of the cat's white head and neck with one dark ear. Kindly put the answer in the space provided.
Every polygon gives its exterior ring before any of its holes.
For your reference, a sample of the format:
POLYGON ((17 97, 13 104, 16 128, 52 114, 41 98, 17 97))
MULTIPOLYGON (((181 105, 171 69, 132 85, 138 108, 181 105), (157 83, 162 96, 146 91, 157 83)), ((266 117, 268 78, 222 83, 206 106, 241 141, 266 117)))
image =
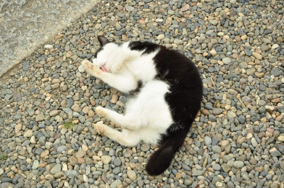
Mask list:
POLYGON ((93 63, 105 72, 118 73, 128 62, 140 57, 143 51, 134 51, 129 43, 116 44, 104 36, 98 36, 101 48, 97 52, 93 63))

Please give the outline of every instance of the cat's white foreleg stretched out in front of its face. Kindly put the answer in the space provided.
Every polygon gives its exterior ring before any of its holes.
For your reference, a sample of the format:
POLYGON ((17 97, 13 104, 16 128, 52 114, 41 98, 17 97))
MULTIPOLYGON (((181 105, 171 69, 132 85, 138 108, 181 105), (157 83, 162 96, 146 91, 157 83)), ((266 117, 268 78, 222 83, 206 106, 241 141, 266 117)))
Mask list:
POLYGON ((128 93, 129 91, 135 90, 138 86, 138 81, 136 81, 130 75, 127 77, 124 75, 104 72, 99 67, 87 60, 82 61, 82 66, 84 67, 85 71, 91 76, 99 78, 103 82, 109 84, 114 88, 117 88, 122 92, 128 93))

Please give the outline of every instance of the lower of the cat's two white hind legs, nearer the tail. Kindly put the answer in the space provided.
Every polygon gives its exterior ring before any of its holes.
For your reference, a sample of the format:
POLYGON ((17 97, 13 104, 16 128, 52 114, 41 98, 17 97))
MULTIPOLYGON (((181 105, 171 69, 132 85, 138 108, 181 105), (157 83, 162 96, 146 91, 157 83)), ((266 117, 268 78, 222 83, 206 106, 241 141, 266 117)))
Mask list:
POLYGON ((110 139, 120 143, 121 145, 127 146, 127 147, 133 147, 137 145, 140 141, 140 138, 132 133, 132 131, 125 131, 122 132, 113 129, 105 124, 97 123, 94 125, 94 129, 99 134, 105 135, 109 137, 110 139))

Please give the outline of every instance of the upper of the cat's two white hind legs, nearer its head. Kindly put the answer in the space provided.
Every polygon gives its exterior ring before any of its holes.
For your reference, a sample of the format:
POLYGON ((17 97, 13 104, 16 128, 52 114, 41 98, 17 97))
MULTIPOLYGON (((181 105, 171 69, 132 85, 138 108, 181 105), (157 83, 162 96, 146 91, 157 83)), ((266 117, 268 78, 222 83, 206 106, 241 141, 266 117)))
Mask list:
POLYGON ((106 117, 117 125, 120 125, 122 128, 128 130, 134 130, 134 127, 131 126, 130 119, 122 114, 119 114, 113 110, 104 108, 102 106, 96 107, 96 112, 100 117, 106 117))

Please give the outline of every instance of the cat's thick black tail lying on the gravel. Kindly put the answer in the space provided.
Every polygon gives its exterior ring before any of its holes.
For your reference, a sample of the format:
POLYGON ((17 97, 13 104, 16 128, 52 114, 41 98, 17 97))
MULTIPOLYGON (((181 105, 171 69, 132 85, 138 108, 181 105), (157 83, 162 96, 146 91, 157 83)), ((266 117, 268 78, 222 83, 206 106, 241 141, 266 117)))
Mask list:
POLYGON ((184 131, 182 131, 182 133, 173 133, 164 140, 159 149, 150 157, 146 165, 146 171, 149 175, 159 175, 169 167, 175 152, 183 144, 186 133, 184 131))

